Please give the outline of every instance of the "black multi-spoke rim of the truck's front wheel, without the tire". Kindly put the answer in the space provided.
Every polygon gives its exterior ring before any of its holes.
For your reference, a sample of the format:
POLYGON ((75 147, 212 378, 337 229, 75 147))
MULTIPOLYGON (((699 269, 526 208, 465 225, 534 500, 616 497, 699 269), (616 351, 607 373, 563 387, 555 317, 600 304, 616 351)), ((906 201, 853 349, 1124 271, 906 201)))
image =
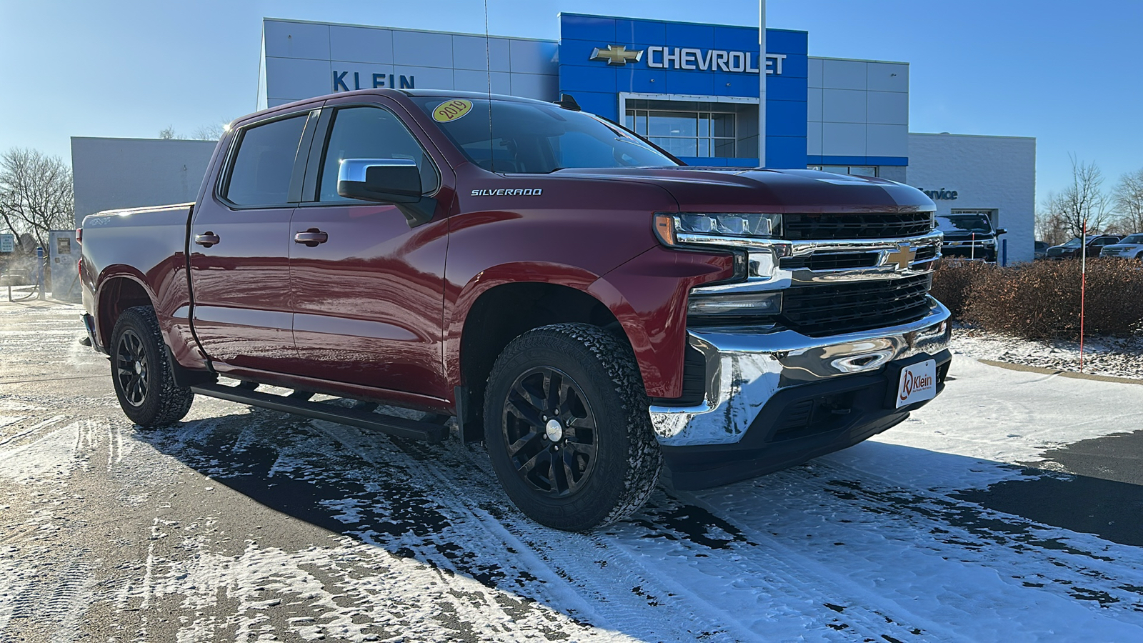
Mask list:
POLYGON ((566 497, 591 476, 599 443, 596 415, 567 373, 538 366, 517 378, 502 426, 512 466, 533 490, 566 497))

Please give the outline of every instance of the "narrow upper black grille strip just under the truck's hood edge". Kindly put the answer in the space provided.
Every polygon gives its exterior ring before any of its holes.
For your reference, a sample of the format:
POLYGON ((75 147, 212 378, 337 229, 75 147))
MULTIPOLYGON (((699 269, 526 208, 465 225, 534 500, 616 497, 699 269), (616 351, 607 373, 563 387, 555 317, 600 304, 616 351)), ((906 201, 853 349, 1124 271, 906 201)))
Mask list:
POLYGON ((933 231, 933 213, 784 214, 782 231, 793 241, 914 237, 933 231))

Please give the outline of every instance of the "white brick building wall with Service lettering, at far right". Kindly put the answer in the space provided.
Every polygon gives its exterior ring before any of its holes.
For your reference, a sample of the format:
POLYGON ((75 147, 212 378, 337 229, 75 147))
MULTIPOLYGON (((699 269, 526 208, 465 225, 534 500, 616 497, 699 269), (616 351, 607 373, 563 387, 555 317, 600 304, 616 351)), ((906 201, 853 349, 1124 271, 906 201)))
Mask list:
POLYGON ((965 134, 910 134, 906 182, 921 190, 956 191, 934 199, 937 214, 996 211, 1007 228, 1008 263, 1032 261, 1036 213, 1036 138, 965 134))

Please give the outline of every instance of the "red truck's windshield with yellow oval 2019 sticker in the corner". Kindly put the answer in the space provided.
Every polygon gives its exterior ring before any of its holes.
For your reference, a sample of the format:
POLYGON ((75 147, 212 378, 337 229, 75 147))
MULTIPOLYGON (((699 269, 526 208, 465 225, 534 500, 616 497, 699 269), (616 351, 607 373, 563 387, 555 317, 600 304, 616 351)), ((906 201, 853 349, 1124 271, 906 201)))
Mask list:
POLYGON ((678 166, 634 134, 584 112, 544 103, 411 96, 469 160, 504 174, 565 167, 678 166))

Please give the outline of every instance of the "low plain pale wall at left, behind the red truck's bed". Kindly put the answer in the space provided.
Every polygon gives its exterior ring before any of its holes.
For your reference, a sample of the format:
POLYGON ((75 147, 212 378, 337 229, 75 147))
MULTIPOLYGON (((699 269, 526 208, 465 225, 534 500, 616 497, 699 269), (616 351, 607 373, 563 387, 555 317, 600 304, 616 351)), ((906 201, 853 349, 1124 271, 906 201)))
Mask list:
POLYGON ((104 209, 195 200, 216 144, 72 136, 75 225, 104 209))

